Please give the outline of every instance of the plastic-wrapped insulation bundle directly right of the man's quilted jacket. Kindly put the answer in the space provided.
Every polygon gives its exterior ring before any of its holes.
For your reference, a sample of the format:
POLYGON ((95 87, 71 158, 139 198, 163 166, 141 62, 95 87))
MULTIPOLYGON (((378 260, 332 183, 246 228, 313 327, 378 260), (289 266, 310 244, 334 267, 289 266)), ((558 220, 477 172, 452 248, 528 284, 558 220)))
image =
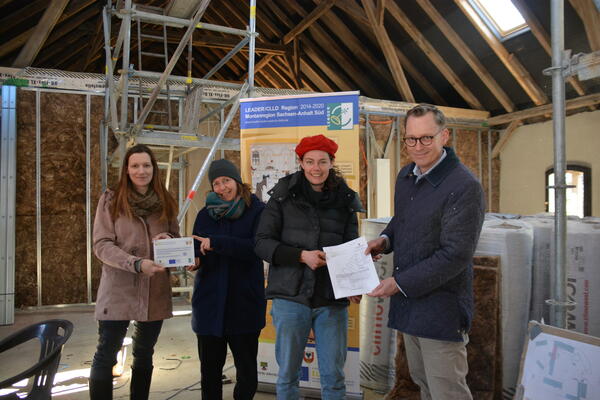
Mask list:
POLYGON ((503 389, 517 383, 531 298, 533 229, 521 220, 484 221, 476 256, 500 256, 503 389))

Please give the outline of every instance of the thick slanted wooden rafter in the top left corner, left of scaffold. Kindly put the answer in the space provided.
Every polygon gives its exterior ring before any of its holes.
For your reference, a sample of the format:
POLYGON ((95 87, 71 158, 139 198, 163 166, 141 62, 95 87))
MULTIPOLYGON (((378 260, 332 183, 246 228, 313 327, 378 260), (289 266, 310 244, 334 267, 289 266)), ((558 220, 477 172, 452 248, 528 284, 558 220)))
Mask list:
POLYGON ((68 2, 69 0, 52 0, 48 8, 46 8, 44 15, 42 15, 42 18, 35 26, 27 43, 25 43, 25 46, 23 46, 21 52, 13 62, 13 67, 28 67, 33 63, 33 60, 35 60, 50 32, 54 29, 68 2))

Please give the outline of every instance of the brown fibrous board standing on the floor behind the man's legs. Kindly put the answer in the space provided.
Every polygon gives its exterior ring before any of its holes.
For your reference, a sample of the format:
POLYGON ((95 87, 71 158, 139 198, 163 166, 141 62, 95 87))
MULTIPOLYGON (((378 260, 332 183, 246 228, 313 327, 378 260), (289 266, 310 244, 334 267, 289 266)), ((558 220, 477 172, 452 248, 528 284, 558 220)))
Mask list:
MULTIPOLYGON (((474 258, 475 316, 469 333, 467 384, 475 400, 500 400, 500 268, 498 257, 474 258)), ((402 334, 397 336, 396 379, 386 400, 418 400, 419 387, 410 378, 402 334)))

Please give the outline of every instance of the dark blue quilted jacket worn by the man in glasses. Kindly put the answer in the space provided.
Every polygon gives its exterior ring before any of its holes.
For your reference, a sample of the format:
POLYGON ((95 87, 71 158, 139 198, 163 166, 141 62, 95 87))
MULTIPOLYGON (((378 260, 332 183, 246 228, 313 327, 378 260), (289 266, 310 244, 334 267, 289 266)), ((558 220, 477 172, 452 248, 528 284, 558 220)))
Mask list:
POLYGON ((394 251, 388 325, 429 339, 462 341, 473 318, 472 258, 483 224, 483 189, 446 147, 446 158, 415 184, 414 163, 396 179, 394 217, 383 231, 394 251))

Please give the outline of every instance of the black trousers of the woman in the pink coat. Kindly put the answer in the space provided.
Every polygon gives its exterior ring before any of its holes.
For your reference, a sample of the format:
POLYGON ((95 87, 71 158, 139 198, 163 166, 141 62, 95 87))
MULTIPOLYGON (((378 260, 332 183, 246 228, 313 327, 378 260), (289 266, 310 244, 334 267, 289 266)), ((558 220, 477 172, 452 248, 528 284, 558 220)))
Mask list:
MULTIPOLYGON (((132 369, 151 370, 154 345, 163 321, 134 322, 132 369)), ((92 361, 90 379, 112 379, 112 367, 123 345, 129 321, 98 321, 98 346, 92 361)))

